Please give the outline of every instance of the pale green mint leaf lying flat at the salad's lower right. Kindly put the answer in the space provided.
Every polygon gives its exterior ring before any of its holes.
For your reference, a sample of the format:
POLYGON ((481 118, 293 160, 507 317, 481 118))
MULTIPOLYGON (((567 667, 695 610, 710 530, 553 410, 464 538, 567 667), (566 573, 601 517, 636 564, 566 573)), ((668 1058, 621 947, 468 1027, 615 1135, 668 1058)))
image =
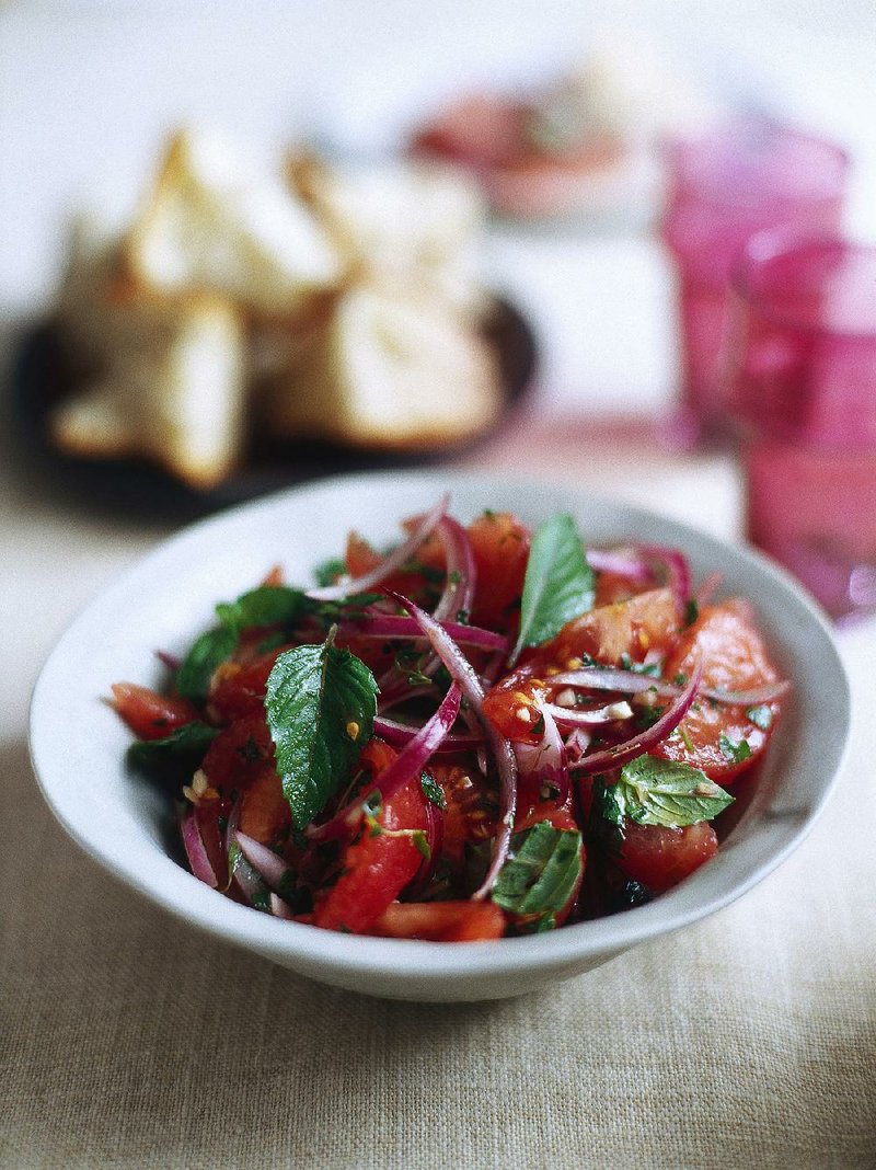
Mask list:
POLYGON ((615 784, 601 792, 606 820, 623 828, 628 818, 637 825, 681 828, 712 820, 733 797, 689 764, 657 756, 639 756, 621 769, 615 784))

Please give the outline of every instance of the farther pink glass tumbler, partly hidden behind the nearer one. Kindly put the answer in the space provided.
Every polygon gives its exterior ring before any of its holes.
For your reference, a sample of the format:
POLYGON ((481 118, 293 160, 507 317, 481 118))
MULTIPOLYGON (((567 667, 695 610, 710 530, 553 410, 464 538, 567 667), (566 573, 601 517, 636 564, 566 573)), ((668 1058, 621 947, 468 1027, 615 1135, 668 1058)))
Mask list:
POLYGON ((669 146, 662 235, 675 261, 681 330, 681 443, 718 434, 719 359, 733 263, 757 232, 840 228, 848 159, 772 122, 740 121, 669 146))

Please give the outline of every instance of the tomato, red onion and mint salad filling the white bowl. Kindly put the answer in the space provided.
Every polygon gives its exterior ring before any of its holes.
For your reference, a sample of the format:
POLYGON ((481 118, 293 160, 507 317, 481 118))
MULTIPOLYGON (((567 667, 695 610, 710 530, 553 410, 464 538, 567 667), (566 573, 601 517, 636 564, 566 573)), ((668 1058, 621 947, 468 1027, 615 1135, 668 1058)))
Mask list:
POLYGON ((447 942, 634 907, 715 854, 788 684, 751 605, 695 593, 681 552, 591 549, 563 514, 463 526, 442 497, 316 576, 216 606, 161 655, 166 693, 112 688, 201 881, 447 942))

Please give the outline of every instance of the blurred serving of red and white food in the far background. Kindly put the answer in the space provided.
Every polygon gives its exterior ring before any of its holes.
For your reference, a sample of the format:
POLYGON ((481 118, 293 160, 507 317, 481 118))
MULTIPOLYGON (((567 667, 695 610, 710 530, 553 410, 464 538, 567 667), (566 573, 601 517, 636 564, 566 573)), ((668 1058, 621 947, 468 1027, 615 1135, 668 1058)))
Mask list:
POLYGON ((471 92, 418 128, 411 151, 474 174, 494 209, 519 219, 649 219, 658 145, 708 125, 706 96, 654 44, 605 39, 529 92, 471 92))

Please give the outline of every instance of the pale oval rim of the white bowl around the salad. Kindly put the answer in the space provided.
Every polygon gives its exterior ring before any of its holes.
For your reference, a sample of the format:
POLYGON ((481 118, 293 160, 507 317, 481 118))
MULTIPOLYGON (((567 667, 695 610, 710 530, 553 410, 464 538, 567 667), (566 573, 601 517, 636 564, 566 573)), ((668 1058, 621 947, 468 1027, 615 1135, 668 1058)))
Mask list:
MULTIPOLYGON (((193 635, 195 632, 187 631, 187 634, 193 635)), ((537 969, 559 970, 570 963, 618 954, 640 942, 680 930, 729 906, 780 866, 812 831, 830 799, 842 771, 849 746, 850 716, 849 681, 826 617, 785 570, 754 549, 722 542, 680 521, 636 508, 623 501, 609 500, 584 486, 570 487, 557 480, 533 480, 532 476, 524 477, 509 473, 380 472, 356 476, 330 476, 284 489, 198 521, 159 542, 102 590, 71 620, 56 642, 33 688, 29 750, 43 798, 68 835, 104 869, 178 920, 226 942, 270 955, 278 962, 317 978, 327 979, 324 972, 332 971, 344 972, 350 977, 425 979, 437 984, 444 979, 458 980, 473 976, 489 978, 513 976, 537 969), (586 505, 618 512, 626 517, 630 526, 634 523, 656 523, 662 538, 668 534, 682 546, 685 542, 688 545, 692 543, 701 551, 717 553, 722 559, 729 557, 734 564, 771 583, 773 590, 778 590, 780 598, 793 607, 795 617, 803 622, 807 638, 819 642, 818 649, 822 655, 820 667, 834 688, 834 714, 839 713, 840 716, 839 723, 833 727, 823 779, 818 794, 799 823, 786 831, 781 844, 767 848, 765 855, 752 865, 744 876, 729 882, 722 883, 717 880, 719 876, 717 867, 723 855, 723 851, 719 851, 709 867, 703 867, 687 882, 646 906, 540 935, 505 938, 498 943, 469 943, 465 947, 456 943, 351 936, 274 918, 249 907, 239 906, 209 889, 163 853, 158 842, 156 842, 156 866, 149 872, 136 868, 131 859, 120 854, 115 842, 97 831, 99 826, 89 820, 84 803, 70 799, 64 777, 67 756, 63 749, 54 743, 51 736, 53 722, 57 718, 53 711, 57 703, 58 686, 63 681, 67 655, 76 651, 77 644, 82 641, 89 627, 99 619, 102 612, 111 611, 113 604, 136 586, 139 577, 160 567, 163 562, 172 560, 180 552, 184 553, 189 545, 218 536, 229 526, 244 523, 254 514, 295 508, 303 504, 309 496, 318 496, 325 491, 354 494, 358 488, 365 487, 378 491, 389 489, 398 491, 414 486, 418 489, 429 486, 436 495, 449 488, 451 496, 454 486, 457 486, 465 490, 483 493, 488 501, 491 498, 501 503, 509 500, 509 504, 513 498, 512 494, 522 489, 532 491, 534 488, 561 493, 566 498, 574 500, 579 508, 586 505), (715 888, 704 899, 691 896, 697 879, 702 879, 710 868, 712 880, 709 886, 715 888), (425 963, 426 957, 428 963, 425 963)), ((805 731, 809 738, 813 737, 811 728, 806 728, 805 731)), ((117 766, 119 770, 123 769, 120 759, 117 766)), ((701 885, 702 881, 697 883, 697 890, 701 885)))

